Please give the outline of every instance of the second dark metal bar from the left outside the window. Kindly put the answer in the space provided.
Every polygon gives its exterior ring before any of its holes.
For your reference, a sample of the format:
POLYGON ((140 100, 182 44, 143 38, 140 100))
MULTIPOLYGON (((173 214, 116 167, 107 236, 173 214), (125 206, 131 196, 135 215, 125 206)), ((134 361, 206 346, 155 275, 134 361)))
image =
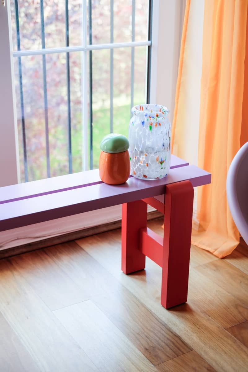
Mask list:
MULTIPOLYGON (((45 24, 44 24, 44 4, 40 0, 41 13, 41 45, 45 49, 45 24)), ((48 126, 48 101, 47 101, 47 87, 46 87, 46 56, 42 55, 42 70, 43 70, 43 94, 44 94, 44 108, 45 108, 45 135, 46 135, 46 174, 51 177, 50 171, 50 154, 49 154, 49 126, 48 126)))

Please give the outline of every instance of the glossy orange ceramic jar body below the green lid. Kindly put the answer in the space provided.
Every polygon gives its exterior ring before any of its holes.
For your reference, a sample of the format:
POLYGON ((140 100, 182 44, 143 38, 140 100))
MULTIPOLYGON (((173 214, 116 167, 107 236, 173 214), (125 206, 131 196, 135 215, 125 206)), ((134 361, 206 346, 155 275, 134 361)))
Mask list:
POLYGON ((110 185, 126 182, 130 174, 128 150, 122 153, 105 153, 101 151, 99 159, 100 179, 110 185))

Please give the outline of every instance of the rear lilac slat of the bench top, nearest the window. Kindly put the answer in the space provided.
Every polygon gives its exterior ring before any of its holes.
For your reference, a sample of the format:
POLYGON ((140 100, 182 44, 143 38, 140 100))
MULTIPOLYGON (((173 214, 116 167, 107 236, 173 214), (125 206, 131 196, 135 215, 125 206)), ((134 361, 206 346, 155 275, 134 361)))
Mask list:
MULTIPOLYGON (((171 169, 187 165, 189 165, 187 161, 171 155, 171 169)), ((97 183, 102 183, 99 177, 99 169, 0 187, 0 204, 13 200, 47 195, 49 193, 57 193, 62 190, 73 190, 97 183)))

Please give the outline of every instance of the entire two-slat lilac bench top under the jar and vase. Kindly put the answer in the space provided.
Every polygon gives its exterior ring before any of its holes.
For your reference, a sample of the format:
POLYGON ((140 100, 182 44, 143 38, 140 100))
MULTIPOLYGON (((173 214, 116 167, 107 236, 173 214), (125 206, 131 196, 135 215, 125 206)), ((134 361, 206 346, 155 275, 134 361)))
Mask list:
POLYGON ((163 194, 163 198, 165 185, 170 183, 190 180, 195 187, 211 182, 210 173, 196 166, 186 165, 187 162, 178 159, 173 157, 170 173, 167 177, 158 180, 139 180, 135 177, 129 177, 128 181, 122 185, 106 185, 99 181, 98 170, 93 170, 55 177, 54 179, 1 187, 0 231, 156 195, 163 194), (76 184, 73 185, 72 181, 68 180, 69 177, 76 184), (84 180, 86 180, 84 177, 88 177, 86 181, 88 183, 82 183, 82 177, 84 180), (54 180, 55 182, 51 183, 54 180), (62 182, 64 180, 65 183, 62 182), (78 184, 78 180, 81 180, 80 184, 78 184), (41 188, 42 185, 45 185, 46 191, 41 188), (51 188, 52 185, 54 185, 53 189, 51 188), (18 189, 19 186, 20 190, 18 189), (3 189, 4 193, 2 194, 3 189), (35 196, 37 194, 39 196, 35 196), (8 200, 12 199, 12 201, 6 201, 4 199, 6 197, 8 200), (17 200, 13 201, 13 199, 17 200))

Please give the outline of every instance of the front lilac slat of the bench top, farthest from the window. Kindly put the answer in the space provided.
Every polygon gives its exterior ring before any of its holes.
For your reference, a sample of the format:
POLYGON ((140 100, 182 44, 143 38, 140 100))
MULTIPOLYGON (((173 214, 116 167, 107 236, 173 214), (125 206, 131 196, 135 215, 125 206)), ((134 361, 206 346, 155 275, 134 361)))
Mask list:
POLYGON ((164 194, 165 185, 183 180, 190 180, 193 186, 205 185, 211 182, 211 174, 196 166, 184 166, 171 169, 159 180, 130 177, 122 185, 99 183, 4 203, 0 205, 0 231, 164 194))

